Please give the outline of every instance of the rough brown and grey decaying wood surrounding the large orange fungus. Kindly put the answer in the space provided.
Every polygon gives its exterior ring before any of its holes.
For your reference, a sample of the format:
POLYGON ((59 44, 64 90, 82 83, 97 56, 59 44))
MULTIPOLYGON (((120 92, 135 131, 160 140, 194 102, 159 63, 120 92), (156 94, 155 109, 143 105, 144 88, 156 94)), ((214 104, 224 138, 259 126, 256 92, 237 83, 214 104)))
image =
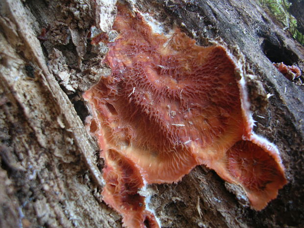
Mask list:
MULTIPOLYGON (((177 184, 149 186, 162 227, 303 227, 303 76, 291 82, 272 64, 303 68, 303 46, 254 0, 129 4, 243 62, 254 131, 278 146, 288 179, 257 212, 241 190, 198 166, 177 184)), ((103 161, 82 99, 110 72, 101 63, 106 46, 92 46, 89 31, 110 32, 114 16, 115 0, 0 2, 0 227, 122 227, 101 199, 103 161)))

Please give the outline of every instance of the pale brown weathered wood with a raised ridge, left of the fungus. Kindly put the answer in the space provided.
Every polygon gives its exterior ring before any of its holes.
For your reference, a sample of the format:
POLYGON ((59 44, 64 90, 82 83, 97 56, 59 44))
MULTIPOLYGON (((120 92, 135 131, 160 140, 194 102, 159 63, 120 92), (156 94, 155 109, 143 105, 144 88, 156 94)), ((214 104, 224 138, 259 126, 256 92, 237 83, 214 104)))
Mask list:
POLYGON ((1 10, 1 227, 119 226, 100 201, 98 147, 49 72, 29 11, 1 10))

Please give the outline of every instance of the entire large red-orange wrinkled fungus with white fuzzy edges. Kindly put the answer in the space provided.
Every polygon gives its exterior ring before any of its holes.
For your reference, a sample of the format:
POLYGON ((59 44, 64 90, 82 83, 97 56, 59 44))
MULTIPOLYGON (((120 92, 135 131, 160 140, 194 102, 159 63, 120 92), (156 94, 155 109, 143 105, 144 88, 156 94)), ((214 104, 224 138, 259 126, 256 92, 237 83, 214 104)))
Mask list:
POLYGON ((220 45, 202 47, 178 29, 153 33, 118 5, 119 32, 104 62, 112 74, 84 94, 105 159, 104 201, 128 228, 159 227, 144 184, 173 183, 197 165, 240 185, 255 210, 286 183, 275 145, 253 133, 240 64, 220 45))

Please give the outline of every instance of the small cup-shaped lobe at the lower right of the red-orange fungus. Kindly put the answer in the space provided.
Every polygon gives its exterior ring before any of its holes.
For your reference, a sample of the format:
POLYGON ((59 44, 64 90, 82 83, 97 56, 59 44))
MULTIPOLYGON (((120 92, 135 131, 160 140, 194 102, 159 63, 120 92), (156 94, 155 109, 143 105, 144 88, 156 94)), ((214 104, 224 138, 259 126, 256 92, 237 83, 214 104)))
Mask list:
POLYGON ((257 209, 277 197, 278 186, 286 183, 278 162, 250 141, 236 142, 227 153, 228 171, 239 182, 257 209))

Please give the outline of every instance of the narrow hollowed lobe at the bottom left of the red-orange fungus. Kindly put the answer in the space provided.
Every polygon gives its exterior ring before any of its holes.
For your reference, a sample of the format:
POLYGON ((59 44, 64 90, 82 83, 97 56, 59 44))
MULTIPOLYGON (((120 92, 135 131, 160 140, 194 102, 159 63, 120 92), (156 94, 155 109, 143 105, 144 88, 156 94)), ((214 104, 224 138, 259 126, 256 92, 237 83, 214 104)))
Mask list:
POLYGON ((137 191, 144 186, 135 164, 114 149, 102 152, 105 158, 102 192, 104 201, 124 215, 124 225, 132 228, 157 228, 157 222, 146 210, 145 198, 137 191))

